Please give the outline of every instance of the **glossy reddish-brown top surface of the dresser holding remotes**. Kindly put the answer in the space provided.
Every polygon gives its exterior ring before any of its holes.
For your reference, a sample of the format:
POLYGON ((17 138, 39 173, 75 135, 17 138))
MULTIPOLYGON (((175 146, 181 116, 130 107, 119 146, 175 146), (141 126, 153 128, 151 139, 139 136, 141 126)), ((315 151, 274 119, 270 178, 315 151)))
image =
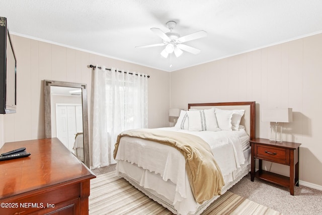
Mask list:
POLYGON ((22 147, 29 157, 0 161, 0 199, 96 177, 58 138, 7 142, 0 154, 22 147))

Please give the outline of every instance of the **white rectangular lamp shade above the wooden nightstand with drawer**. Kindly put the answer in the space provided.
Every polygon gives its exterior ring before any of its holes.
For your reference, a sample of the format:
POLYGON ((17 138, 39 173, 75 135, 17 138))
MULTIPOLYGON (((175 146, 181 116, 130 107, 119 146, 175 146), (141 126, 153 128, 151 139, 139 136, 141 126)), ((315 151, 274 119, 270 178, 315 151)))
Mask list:
POLYGON ((262 109, 263 122, 292 122, 292 108, 262 109))

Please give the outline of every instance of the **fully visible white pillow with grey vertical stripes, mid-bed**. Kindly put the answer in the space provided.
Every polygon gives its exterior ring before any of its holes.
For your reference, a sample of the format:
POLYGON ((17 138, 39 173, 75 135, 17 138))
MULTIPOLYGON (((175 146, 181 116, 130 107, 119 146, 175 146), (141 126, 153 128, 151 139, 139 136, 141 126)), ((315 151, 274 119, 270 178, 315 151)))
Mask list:
POLYGON ((219 131, 213 109, 187 111, 190 131, 219 131))

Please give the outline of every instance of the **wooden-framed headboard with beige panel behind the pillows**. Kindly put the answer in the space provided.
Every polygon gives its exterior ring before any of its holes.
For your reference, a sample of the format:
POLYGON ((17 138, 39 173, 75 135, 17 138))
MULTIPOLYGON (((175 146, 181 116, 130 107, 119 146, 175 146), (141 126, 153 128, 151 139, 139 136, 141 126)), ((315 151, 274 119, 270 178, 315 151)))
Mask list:
POLYGON ((251 139, 255 138, 256 132, 256 102, 219 102, 219 103, 193 103, 188 104, 188 110, 194 109, 210 109, 217 107, 225 110, 245 110, 244 116, 241 118, 240 124, 245 126, 245 130, 251 139))

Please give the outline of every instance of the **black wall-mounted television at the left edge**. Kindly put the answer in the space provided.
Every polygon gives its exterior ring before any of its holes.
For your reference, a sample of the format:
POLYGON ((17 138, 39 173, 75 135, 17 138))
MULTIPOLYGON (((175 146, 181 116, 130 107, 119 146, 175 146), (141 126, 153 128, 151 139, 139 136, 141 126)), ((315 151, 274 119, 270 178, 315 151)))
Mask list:
POLYGON ((16 113, 17 59, 7 18, 0 17, 0 114, 16 113))

